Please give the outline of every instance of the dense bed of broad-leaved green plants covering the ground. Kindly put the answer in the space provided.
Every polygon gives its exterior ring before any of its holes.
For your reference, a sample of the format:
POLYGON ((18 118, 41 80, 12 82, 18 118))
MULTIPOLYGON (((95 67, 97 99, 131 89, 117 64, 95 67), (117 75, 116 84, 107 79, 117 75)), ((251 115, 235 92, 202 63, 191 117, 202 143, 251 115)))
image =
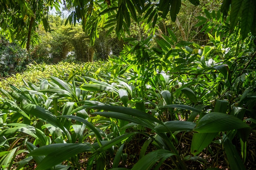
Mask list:
POLYGON ((204 148, 212 160, 223 152, 232 170, 245 170, 247 139, 256 128, 255 54, 245 45, 236 57, 236 46, 228 48, 218 35, 198 46, 168 32, 171 37, 157 41, 161 49, 149 48, 152 37, 127 39, 109 62, 1 89, 0 165, 10 169, 24 152, 17 169, 32 159, 37 170, 81 169, 84 154, 88 170, 128 169, 125 145, 140 134, 146 140, 132 170, 158 169, 166 159, 177 169, 186 170, 189 161, 214 168, 198 156, 204 148), (189 133, 184 153, 179 141, 189 133), (150 145, 155 149, 147 151, 150 145))

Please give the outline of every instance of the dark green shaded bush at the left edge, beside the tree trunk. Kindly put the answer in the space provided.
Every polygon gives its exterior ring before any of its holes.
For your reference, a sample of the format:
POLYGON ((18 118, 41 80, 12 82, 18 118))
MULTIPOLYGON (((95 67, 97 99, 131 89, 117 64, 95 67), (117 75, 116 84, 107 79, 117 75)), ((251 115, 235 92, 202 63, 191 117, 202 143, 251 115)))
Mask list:
POLYGON ((0 76, 8 75, 10 69, 22 71, 26 58, 27 52, 19 44, 0 36, 0 76))

